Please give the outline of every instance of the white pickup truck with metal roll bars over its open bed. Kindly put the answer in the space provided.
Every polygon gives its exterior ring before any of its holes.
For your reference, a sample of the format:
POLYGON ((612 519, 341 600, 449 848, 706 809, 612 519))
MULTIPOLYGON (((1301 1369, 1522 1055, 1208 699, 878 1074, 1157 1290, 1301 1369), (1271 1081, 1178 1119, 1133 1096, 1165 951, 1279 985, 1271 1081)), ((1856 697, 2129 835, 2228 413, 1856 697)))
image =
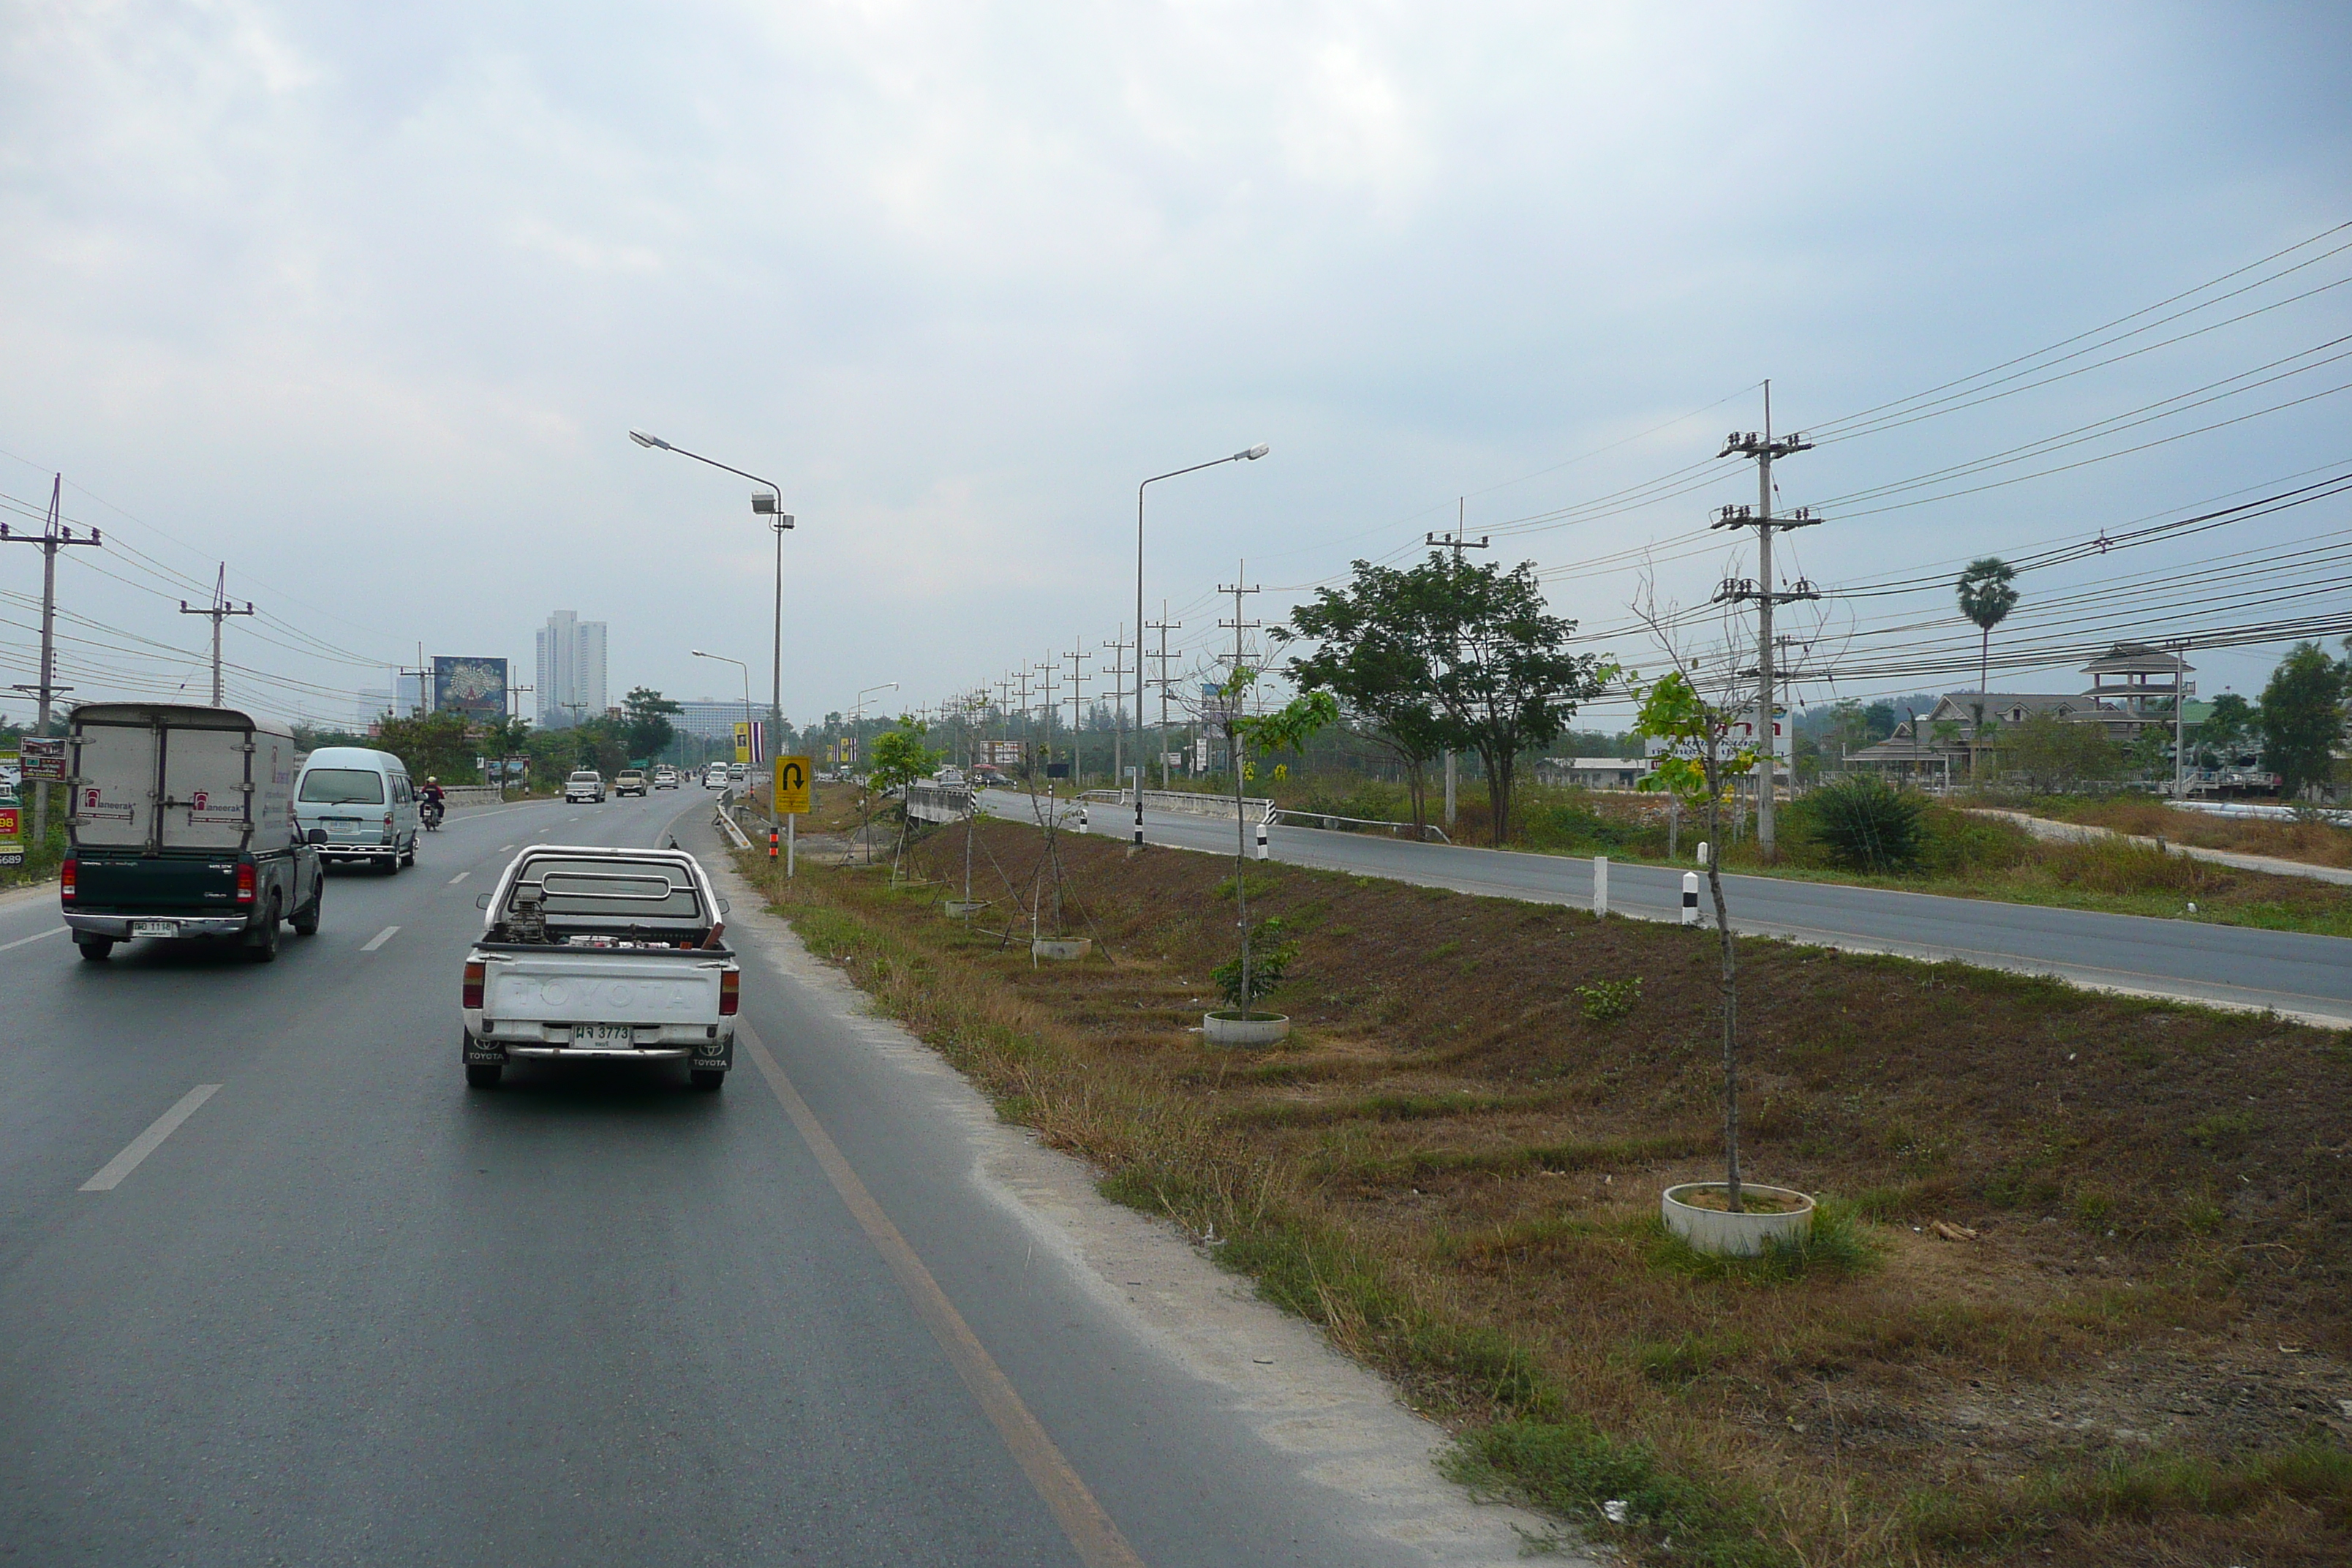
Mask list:
POLYGON ((682 1060, 696 1088, 734 1067, 743 971, 727 903, 682 849, 534 844, 466 954, 466 1084, 513 1060, 682 1060))

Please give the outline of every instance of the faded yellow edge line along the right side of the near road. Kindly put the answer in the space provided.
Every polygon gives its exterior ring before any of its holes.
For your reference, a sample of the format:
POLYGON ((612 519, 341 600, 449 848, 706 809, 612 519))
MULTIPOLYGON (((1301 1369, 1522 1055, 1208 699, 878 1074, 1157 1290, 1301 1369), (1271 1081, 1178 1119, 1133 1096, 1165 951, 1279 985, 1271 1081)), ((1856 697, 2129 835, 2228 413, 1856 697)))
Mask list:
POLYGON ((875 1244, 889 1272, 898 1276, 906 1288, 908 1300, 915 1305, 915 1316, 922 1326, 931 1331, 938 1347, 948 1352, 948 1363, 955 1366, 955 1375, 964 1380, 971 1396, 981 1401, 981 1410, 995 1425, 997 1436, 1011 1448, 1014 1462, 1021 1465, 1021 1474, 1028 1476, 1044 1505, 1054 1509, 1054 1519, 1061 1521, 1061 1533, 1070 1537, 1077 1549, 1080 1561, 1087 1568, 1143 1568, 1143 1559, 1136 1549, 1127 1544, 1120 1535, 1120 1526, 1110 1521, 1103 1505, 1094 1500, 1087 1483, 1077 1479, 1070 1460, 1063 1458, 1047 1429, 1037 1425, 1030 1408, 1021 1403, 1021 1394, 1014 1389, 1011 1378, 997 1366, 981 1338, 971 1333, 971 1324, 964 1314, 955 1309, 948 1293, 938 1288, 931 1279, 931 1269, 922 1267, 922 1258, 908 1246, 898 1227, 882 1211, 882 1204, 866 1190, 858 1173, 849 1166, 840 1145, 826 1133, 826 1126, 809 1110, 809 1103, 800 1098, 793 1088, 793 1079, 786 1077, 783 1067, 760 1041, 748 1023, 736 1020, 736 1044, 741 1044, 750 1060, 757 1063, 760 1077, 767 1079, 769 1091, 776 1103, 783 1105, 783 1114, 793 1119, 800 1131, 802 1143, 816 1154, 816 1164, 826 1168, 826 1178, 833 1190, 842 1194, 842 1204, 856 1218, 866 1239, 875 1244))

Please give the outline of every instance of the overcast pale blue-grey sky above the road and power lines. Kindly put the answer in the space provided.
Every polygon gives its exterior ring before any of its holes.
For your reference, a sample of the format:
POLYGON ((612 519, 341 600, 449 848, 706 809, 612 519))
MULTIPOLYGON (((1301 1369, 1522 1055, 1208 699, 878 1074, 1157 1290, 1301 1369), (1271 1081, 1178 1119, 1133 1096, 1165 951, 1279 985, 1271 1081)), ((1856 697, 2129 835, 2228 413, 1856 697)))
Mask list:
MULTIPOLYGON (((303 637, 506 654, 529 682, 550 609, 612 625, 614 701, 741 689, 691 646, 764 698, 750 487, 630 428, 781 480, 797 722, 1082 644, 1101 668, 1134 618, 1136 482, 1251 442, 1272 456, 1152 487, 1178 644, 1216 637, 1240 557, 1279 618, 1456 505, 1616 628, 1651 541, 1661 597, 1708 597, 1733 541, 1689 536, 1752 475, 1522 520, 1715 456, 1766 376, 1778 428, 1823 425, 2352 219, 2343 5, 16 0, 0 49, 0 491, 38 508, 64 470, 66 515, 143 552, 68 552, 61 602, 108 630, 68 628, 103 646, 68 644, 66 679, 188 682, 205 623, 148 562, 209 583, 226 559, 275 616, 233 623, 230 658, 301 682, 233 696, 327 717, 383 675, 303 637)), ((1792 458, 1780 501, 1830 503, 1797 569, 1950 576, 2352 468, 2352 360, 2288 360, 2352 334, 2352 287, 2324 289, 2345 237, 2112 350, 2147 353, 1792 458), (2089 465, 1835 503, 2277 360, 1987 477, 2089 465)), ((2030 574, 2018 635, 2105 578, 2298 541, 2321 552, 2246 581, 2277 614, 2343 609, 2310 588, 2352 581, 2333 498, 2030 574)), ((0 552, 0 590, 38 595, 38 562, 0 552)), ((2185 597, 2150 597, 2145 635, 2185 597)), ((1947 614, 1938 585, 1799 630, 1860 668, 1872 628, 1947 614)), ((33 679, 33 618, 0 599, 7 682, 33 679)), ((2277 651, 2197 656, 2206 691, 2277 651)))

